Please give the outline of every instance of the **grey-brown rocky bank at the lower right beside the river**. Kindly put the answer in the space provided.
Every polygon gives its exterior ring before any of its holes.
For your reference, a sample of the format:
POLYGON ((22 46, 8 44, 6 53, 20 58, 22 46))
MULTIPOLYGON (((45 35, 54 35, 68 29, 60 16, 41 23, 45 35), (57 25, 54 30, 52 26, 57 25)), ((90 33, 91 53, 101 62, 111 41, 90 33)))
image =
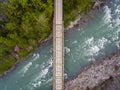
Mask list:
POLYGON ((120 90, 120 54, 96 62, 66 82, 65 90, 120 90))

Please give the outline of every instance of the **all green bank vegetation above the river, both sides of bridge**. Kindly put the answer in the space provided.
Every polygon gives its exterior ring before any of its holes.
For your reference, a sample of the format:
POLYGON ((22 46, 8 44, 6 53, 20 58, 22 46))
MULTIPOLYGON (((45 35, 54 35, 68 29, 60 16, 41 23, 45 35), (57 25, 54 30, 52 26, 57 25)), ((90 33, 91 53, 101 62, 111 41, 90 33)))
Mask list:
MULTIPOLYGON (((93 0, 64 0, 65 28, 92 9, 93 0)), ((8 0, 0 3, 0 76, 15 68, 52 37, 52 0, 8 0)))

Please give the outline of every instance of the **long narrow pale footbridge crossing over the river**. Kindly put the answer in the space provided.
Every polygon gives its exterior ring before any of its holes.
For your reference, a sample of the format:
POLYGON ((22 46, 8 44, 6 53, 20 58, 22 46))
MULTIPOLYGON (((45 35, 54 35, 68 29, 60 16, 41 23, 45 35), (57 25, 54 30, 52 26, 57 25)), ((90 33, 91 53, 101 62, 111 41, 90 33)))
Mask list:
POLYGON ((62 0, 54 0, 53 90, 64 90, 64 29, 62 0))

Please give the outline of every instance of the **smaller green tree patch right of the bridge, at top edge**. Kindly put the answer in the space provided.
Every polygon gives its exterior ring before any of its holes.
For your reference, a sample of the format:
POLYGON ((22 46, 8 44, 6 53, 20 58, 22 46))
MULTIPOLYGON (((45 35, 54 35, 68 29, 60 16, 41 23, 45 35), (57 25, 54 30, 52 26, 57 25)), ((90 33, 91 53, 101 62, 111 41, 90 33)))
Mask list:
POLYGON ((94 0, 63 0, 64 25, 67 27, 77 16, 91 9, 94 0), (68 3, 69 2, 69 3, 68 3), (79 13, 78 13, 79 12, 79 13))

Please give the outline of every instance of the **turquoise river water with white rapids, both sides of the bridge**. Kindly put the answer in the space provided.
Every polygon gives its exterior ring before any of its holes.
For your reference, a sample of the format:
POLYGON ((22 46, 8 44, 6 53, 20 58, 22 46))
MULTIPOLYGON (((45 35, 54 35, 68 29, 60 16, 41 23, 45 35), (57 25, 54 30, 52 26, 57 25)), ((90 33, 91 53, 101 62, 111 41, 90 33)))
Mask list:
MULTIPOLYGON (((65 78, 114 53, 119 46, 120 0, 110 0, 87 24, 65 32, 65 78)), ((0 90, 52 90, 52 40, 0 77, 0 90)))

